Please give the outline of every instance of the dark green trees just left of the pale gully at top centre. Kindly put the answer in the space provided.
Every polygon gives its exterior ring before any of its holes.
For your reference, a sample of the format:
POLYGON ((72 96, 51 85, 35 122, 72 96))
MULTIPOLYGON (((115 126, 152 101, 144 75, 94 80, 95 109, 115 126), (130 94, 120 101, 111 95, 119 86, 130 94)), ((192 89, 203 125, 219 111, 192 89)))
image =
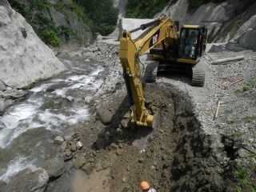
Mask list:
POLYGON ((96 33, 110 34, 117 25, 118 9, 113 0, 74 0, 86 12, 86 19, 94 38, 96 33))

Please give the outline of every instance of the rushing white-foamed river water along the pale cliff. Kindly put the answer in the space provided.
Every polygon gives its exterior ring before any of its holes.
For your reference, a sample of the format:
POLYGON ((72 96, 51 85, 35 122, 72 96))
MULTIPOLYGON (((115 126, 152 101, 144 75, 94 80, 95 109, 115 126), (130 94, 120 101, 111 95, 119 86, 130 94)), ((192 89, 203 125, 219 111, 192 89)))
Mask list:
POLYGON ((74 60, 70 70, 38 82, 0 117, 0 181, 56 155, 54 138, 71 134, 90 116, 84 98, 101 85, 103 70, 102 63, 74 60))

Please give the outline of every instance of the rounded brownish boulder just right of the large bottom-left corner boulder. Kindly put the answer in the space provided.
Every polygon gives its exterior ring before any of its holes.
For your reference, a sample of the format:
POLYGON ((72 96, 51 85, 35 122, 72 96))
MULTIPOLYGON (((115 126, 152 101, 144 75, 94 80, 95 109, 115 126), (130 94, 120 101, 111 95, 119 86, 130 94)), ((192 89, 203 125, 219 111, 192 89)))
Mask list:
POLYGON ((47 160, 43 166, 43 169, 47 171, 49 178, 56 178, 65 172, 65 163, 62 158, 55 157, 47 160))

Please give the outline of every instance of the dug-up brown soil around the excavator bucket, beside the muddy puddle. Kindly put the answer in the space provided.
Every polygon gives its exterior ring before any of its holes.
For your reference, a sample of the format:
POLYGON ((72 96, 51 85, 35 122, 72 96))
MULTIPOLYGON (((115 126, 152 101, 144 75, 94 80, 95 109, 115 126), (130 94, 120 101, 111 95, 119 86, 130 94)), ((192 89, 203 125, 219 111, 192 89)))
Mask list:
POLYGON ((157 129, 121 126, 130 111, 122 97, 104 106, 113 114, 109 126, 91 118, 78 130, 85 144, 78 154, 94 171, 110 170, 103 191, 140 191, 143 180, 157 191, 234 191, 234 174, 218 161, 218 155, 226 156, 224 147, 203 133, 190 96, 164 83, 147 84, 145 92, 147 109, 160 111, 157 129), (95 143, 106 134, 105 148, 98 150, 95 143), (110 150, 111 143, 119 149, 110 150))

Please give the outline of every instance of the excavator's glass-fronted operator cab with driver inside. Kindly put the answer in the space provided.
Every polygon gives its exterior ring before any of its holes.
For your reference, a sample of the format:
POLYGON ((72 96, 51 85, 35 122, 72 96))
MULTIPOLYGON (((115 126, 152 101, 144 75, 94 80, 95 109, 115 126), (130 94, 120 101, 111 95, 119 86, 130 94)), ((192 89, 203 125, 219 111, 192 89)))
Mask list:
POLYGON ((194 60, 191 63, 195 64, 206 50, 206 35, 207 29, 205 26, 182 26, 178 46, 178 58, 194 60))

